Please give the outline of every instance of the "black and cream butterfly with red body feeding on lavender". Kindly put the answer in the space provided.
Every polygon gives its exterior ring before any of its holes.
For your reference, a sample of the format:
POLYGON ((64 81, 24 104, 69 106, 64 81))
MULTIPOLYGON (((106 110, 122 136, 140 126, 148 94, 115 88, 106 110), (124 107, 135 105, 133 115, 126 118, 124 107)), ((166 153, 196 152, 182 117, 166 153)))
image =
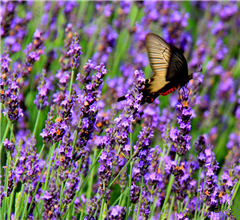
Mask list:
MULTIPOLYGON (((192 74, 188 74, 187 60, 182 50, 169 45, 157 34, 149 33, 145 37, 148 59, 153 71, 153 76, 146 79, 142 90, 142 101, 151 103, 158 96, 166 96, 179 87, 184 87, 192 74)), ((118 101, 126 99, 125 96, 118 101)))

